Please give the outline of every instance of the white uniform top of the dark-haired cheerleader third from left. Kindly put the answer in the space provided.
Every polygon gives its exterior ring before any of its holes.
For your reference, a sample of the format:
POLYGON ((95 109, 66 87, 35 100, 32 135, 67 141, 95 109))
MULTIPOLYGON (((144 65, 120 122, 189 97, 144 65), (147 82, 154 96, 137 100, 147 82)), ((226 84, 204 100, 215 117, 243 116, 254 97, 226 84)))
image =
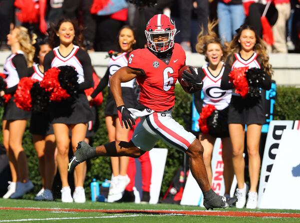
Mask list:
POLYGON ((74 45, 74 48, 71 51, 71 53, 69 53, 69 55, 66 57, 62 57, 58 51, 58 47, 55 47, 53 49, 53 53, 54 53, 55 57, 51 61, 51 67, 57 67, 57 68, 60 66, 73 67, 75 69, 75 71, 78 73, 77 74, 77 77, 78 77, 77 82, 78 82, 78 84, 81 84, 82 82, 84 82, 84 74, 83 74, 82 65, 81 65, 80 61, 77 59, 77 57, 75 56, 78 49, 79 49, 79 47, 74 45))

